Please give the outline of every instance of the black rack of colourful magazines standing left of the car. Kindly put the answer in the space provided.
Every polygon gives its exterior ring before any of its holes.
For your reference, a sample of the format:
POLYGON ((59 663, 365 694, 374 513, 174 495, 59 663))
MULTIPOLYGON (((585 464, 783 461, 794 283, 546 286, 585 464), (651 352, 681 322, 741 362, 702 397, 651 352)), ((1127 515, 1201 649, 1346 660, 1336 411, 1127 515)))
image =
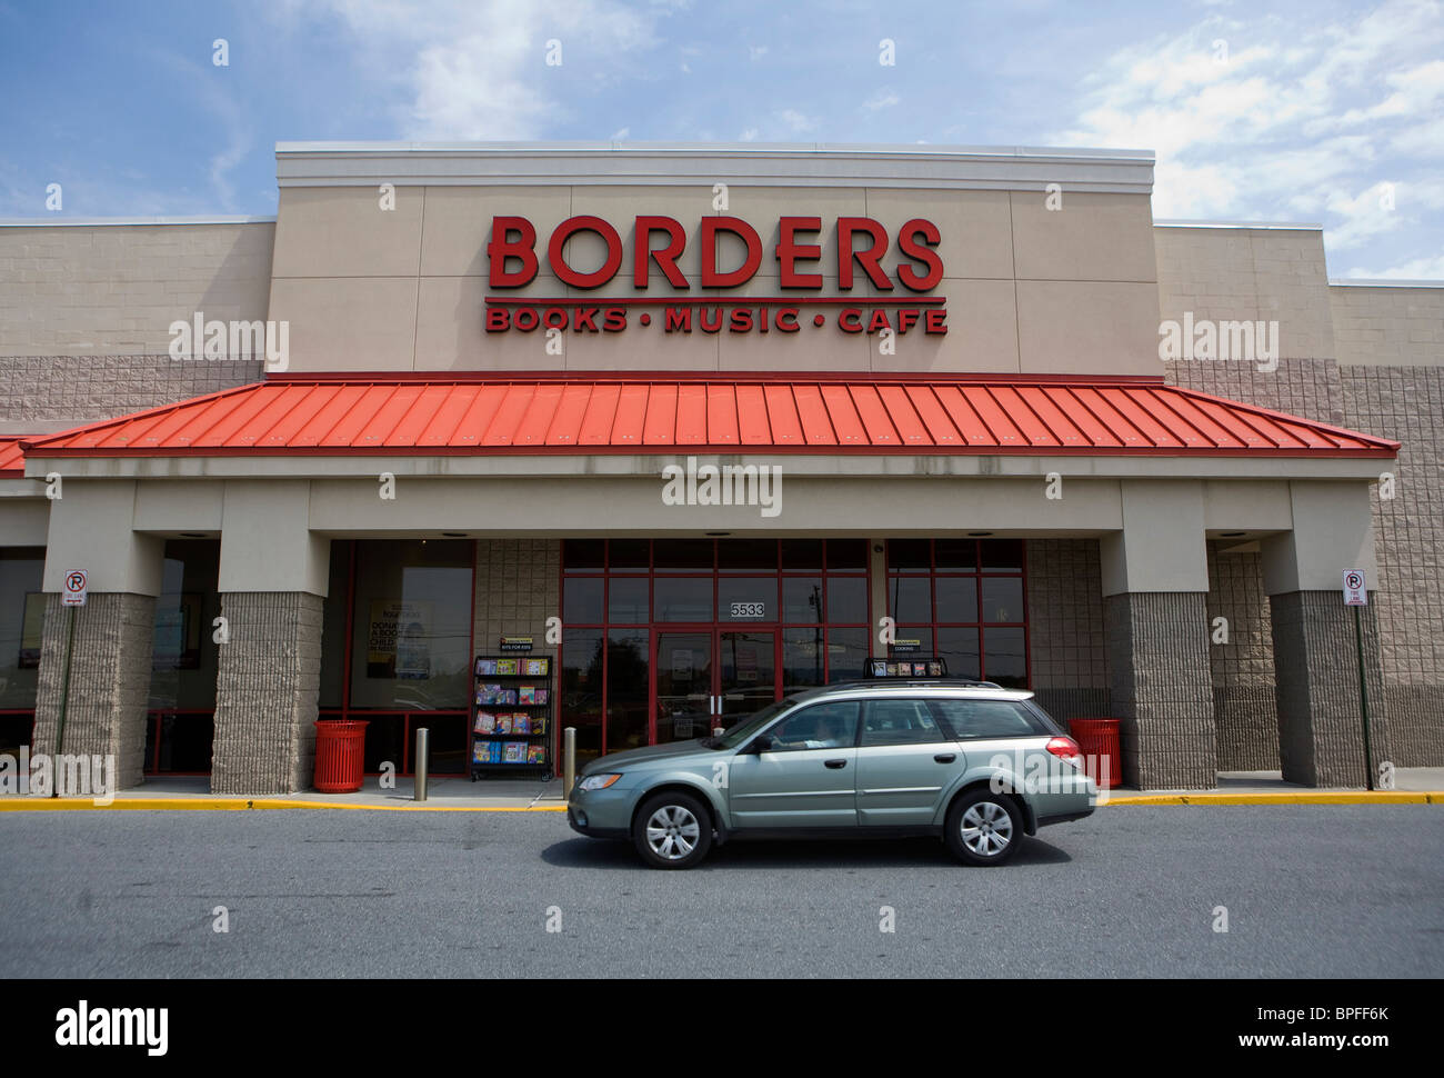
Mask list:
POLYGON ((552 777, 552 657, 478 655, 472 663, 471 780, 552 777))

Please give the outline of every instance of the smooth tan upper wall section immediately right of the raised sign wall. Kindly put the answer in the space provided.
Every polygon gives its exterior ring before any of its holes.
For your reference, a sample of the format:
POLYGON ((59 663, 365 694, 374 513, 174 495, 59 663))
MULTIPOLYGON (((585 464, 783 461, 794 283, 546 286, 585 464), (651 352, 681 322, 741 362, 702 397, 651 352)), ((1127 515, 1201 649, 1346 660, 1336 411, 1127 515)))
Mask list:
POLYGON ((1160 225, 1154 247, 1161 321, 1276 321, 1282 358, 1336 358, 1321 230, 1160 225))

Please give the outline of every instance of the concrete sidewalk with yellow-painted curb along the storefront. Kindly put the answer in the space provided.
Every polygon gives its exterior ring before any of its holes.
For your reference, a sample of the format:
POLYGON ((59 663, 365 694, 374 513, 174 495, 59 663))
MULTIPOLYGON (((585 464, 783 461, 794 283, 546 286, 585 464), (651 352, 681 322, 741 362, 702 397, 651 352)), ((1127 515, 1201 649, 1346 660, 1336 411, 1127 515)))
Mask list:
MULTIPOLYGON (((1395 789, 1314 789, 1284 782, 1279 772, 1220 772, 1212 790, 1139 790, 1118 786, 1108 790, 1108 805, 1330 805, 1330 803, 1444 803, 1444 767, 1401 767, 1395 789)), ((427 799, 417 802, 412 779, 397 779, 396 789, 381 789, 368 777, 357 793, 277 793, 256 798, 212 795, 206 777, 166 776, 143 786, 121 790, 111 805, 95 805, 90 798, 0 796, 4 809, 390 809, 412 812, 560 812, 565 809, 562 780, 482 779, 432 776, 427 799)))

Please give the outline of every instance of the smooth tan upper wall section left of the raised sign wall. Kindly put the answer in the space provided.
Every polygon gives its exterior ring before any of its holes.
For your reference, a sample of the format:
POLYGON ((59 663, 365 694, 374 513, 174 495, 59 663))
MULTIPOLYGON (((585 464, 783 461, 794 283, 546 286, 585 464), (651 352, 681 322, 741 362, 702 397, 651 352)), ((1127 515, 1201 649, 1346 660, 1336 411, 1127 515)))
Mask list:
POLYGON ((0 355, 155 355, 196 312, 264 319, 274 230, 0 225, 0 355))

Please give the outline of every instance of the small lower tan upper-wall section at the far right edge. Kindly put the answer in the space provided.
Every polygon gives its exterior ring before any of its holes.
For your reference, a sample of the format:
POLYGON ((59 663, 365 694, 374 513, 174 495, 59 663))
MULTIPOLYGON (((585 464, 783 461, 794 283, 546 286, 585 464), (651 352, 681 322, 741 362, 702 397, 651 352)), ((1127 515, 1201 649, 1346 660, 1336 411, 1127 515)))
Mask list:
POLYGON ((1341 366, 1444 366, 1444 282, 1430 288, 1333 285, 1341 366))

